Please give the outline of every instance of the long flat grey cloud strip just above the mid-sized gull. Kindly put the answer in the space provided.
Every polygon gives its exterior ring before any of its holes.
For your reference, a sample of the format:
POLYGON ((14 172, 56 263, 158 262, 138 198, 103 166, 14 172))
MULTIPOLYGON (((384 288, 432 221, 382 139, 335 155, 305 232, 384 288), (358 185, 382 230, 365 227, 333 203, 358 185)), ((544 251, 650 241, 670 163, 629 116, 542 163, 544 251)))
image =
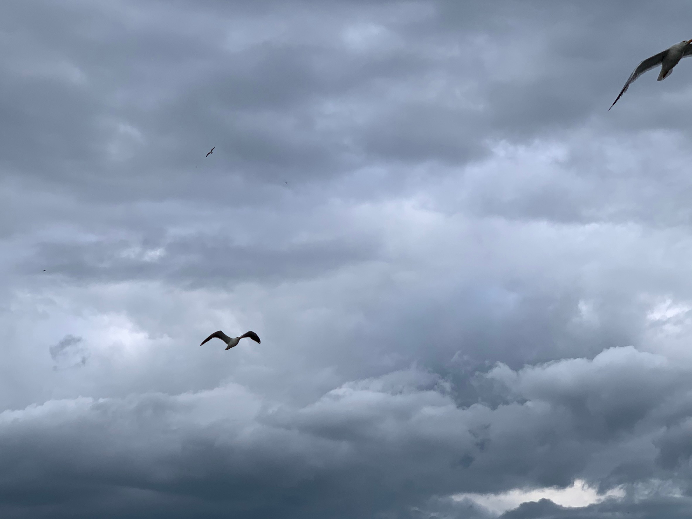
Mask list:
MULTIPOLYGON (((79 282, 171 278, 184 284, 223 286, 239 280, 279 281, 318 275, 369 259, 369 248, 367 243, 341 240, 286 244, 283 248, 238 246, 221 236, 195 235, 148 247, 129 241, 43 244, 36 255, 49 258, 42 264, 47 264, 52 275, 79 282)), ((38 265, 25 266, 25 271, 38 265)))

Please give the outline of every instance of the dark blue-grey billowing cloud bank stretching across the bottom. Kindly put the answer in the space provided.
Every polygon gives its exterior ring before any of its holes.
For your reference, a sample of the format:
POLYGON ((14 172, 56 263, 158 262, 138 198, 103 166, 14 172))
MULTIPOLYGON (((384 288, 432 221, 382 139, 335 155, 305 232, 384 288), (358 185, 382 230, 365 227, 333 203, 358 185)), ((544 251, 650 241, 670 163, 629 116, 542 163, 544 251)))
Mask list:
MULTIPOLYGON (((432 495, 567 486, 575 475, 634 487, 642 477, 675 474, 660 457, 662 444, 671 444, 661 425, 674 430, 689 421, 688 373, 628 347, 592 361, 477 374, 509 390, 495 406, 459 408, 444 379, 415 368, 346 383, 301 407, 235 383, 46 401, 0 415, 8 446, 3 506, 10 516, 21 505, 50 516, 55 509, 37 501, 61 495, 65 516, 84 506, 100 516, 126 498, 125 489, 138 489, 143 500, 175 497, 162 505, 173 516, 198 502, 211 516, 321 517, 338 509, 358 517, 429 507, 432 495), (471 462, 459 462, 464 457, 471 462), (55 473, 60 480, 51 482, 55 473), (85 485, 102 500, 80 499, 85 485), (182 510, 174 511, 176 500, 182 510)), ((679 452, 689 459, 689 448, 679 452)), ((612 502, 599 507, 592 512, 612 513, 612 502)), ((550 513, 561 517, 556 509, 550 513)), ((522 509, 507 517, 522 517, 522 509)))

